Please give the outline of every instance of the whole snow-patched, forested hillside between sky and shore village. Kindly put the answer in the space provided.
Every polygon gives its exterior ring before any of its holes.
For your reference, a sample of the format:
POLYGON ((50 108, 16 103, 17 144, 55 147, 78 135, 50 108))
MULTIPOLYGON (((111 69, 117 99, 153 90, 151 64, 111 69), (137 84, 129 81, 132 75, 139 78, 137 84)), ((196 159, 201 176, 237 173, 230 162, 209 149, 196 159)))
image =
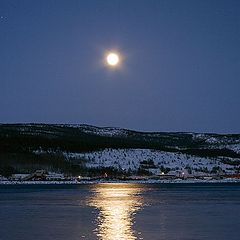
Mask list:
POLYGON ((136 132, 64 124, 1 124, 0 174, 47 169, 98 175, 237 173, 240 134, 136 132))

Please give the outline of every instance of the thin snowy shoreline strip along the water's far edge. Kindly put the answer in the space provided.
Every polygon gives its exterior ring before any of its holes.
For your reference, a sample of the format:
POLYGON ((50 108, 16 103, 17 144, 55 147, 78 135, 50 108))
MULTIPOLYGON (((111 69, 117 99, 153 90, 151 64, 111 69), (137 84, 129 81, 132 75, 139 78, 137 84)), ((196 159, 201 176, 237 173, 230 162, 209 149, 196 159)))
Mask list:
POLYGON ((101 184, 101 183, 136 183, 136 184, 221 184, 221 183, 240 183, 240 179, 236 178, 226 178, 221 180, 89 180, 89 181, 0 181, 0 186, 5 185, 87 185, 87 184, 101 184))

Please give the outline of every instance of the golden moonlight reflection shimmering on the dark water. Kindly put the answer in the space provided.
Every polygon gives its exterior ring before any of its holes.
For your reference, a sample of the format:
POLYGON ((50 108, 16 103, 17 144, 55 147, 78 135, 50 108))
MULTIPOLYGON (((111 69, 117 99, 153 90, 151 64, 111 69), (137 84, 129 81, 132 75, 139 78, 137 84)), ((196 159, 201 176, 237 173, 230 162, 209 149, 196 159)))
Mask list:
MULTIPOLYGON (((99 184, 92 188, 88 204, 99 210, 96 234, 101 240, 135 240, 134 215, 143 206, 134 184, 99 184)), ((140 234, 140 233, 139 233, 140 234)))

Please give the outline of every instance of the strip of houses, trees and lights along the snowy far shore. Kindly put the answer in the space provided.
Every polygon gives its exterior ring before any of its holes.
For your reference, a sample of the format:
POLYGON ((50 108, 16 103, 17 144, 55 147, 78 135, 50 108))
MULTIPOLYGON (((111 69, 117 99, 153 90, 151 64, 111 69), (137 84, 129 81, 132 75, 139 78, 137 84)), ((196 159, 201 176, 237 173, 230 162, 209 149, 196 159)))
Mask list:
POLYGON ((240 174, 199 174, 194 176, 187 171, 176 173, 161 172, 151 176, 108 176, 104 173, 101 176, 67 176, 63 173, 47 172, 46 170, 36 170, 31 174, 12 174, 9 177, 0 175, 0 184, 84 184, 97 182, 146 182, 146 183, 221 183, 221 182, 240 182, 240 174))

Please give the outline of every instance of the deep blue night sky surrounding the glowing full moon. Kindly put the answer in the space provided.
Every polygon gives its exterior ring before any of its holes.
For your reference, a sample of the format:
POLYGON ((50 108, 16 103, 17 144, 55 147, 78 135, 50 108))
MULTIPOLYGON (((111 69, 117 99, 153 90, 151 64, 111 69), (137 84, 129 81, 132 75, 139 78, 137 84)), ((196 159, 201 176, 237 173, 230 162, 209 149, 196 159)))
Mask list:
POLYGON ((240 1, 0 0, 0 110, 2 123, 239 133, 240 1))

